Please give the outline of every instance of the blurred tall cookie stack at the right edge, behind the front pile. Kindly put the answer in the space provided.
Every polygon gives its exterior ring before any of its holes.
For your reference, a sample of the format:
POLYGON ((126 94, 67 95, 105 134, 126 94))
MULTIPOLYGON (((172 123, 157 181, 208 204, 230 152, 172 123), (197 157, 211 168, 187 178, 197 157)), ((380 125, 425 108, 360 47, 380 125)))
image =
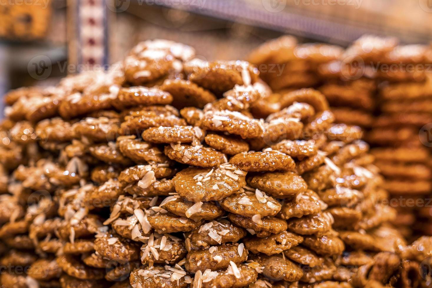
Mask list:
MULTIPOLYGON (((375 47, 375 43, 370 44, 375 47)), ((377 117, 366 140, 375 165, 386 178, 391 205, 398 209, 395 225, 412 233, 432 235, 431 97, 432 49, 396 45, 370 59, 377 69, 377 117)))

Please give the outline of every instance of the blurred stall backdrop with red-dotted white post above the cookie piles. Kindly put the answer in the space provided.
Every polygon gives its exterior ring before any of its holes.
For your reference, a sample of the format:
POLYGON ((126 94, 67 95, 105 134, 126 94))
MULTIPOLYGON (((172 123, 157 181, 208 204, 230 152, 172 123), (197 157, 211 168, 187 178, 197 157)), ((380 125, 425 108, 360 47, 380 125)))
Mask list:
POLYGON ((431 41, 432 0, 0 0, 0 94, 53 85, 165 38, 244 59, 281 34, 346 46, 362 34, 431 41))

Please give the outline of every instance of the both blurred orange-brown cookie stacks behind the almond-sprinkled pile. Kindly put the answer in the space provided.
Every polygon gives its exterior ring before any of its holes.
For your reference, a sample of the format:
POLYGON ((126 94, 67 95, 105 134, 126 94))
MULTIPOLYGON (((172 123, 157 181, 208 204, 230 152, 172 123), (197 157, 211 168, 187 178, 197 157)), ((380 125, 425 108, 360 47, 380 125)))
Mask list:
POLYGON ((432 210, 427 206, 432 157, 426 147, 429 131, 426 127, 423 143, 419 131, 432 122, 432 47, 365 35, 341 50, 327 44, 297 44, 295 38, 283 36, 262 44, 248 59, 276 92, 265 101, 269 112, 283 104, 290 89, 313 87, 330 103, 335 123, 361 127, 363 138, 374 147, 374 164, 385 177, 391 205, 399 212, 392 222, 407 237, 431 235, 432 210), (283 72, 270 69, 275 65, 283 72), (302 75, 299 67, 307 67, 314 81, 293 85, 277 77, 288 73, 295 79, 302 75), (418 224, 420 219, 425 221, 418 224))

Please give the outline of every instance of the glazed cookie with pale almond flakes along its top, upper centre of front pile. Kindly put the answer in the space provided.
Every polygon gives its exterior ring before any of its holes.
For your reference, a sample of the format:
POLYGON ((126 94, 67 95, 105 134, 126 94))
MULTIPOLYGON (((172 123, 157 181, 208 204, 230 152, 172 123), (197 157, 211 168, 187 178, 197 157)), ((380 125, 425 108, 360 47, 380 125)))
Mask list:
POLYGON ((210 131, 228 132, 241 138, 256 138, 263 132, 259 120, 245 116, 237 111, 207 111, 200 124, 201 128, 210 131))

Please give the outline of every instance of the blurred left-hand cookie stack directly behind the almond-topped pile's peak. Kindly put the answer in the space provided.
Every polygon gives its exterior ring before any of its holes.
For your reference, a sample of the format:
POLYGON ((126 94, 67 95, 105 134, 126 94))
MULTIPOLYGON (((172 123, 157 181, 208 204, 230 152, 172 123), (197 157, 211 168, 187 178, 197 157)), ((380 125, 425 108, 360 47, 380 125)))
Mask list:
MULTIPOLYGON (((359 44, 360 45, 360 44, 359 44)), ((248 56, 273 89, 271 103, 283 105, 283 95, 298 88, 316 88, 334 113, 335 123, 370 128, 375 109, 376 84, 371 67, 346 55, 341 47, 298 44, 291 36, 268 41, 248 56)))

